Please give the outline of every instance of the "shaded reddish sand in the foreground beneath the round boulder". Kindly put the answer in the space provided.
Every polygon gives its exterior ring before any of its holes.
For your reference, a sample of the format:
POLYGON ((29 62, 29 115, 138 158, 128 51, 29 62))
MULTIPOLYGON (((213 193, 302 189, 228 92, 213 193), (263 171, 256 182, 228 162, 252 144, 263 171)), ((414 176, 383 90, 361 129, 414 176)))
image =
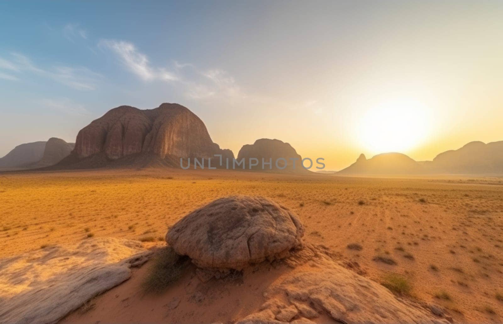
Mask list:
MULTIPOLYGON (((306 267, 309 266, 295 271, 306 267)), ((154 295, 145 294, 142 289, 142 279, 148 270, 149 265, 146 264, 135 271, 125 284, 91 300, 90 306, 74 311, 61 323, 234 322, 257 311, 266 300, 264 291, 269 285, 282 281, 294 271, 285 265, 275 268, 261 264, 246 269, 242 276, 203 283, 192 266, 169 290, 154 295)), ((335 322, 326 315, 314 320, 319 323, 335 322)))

